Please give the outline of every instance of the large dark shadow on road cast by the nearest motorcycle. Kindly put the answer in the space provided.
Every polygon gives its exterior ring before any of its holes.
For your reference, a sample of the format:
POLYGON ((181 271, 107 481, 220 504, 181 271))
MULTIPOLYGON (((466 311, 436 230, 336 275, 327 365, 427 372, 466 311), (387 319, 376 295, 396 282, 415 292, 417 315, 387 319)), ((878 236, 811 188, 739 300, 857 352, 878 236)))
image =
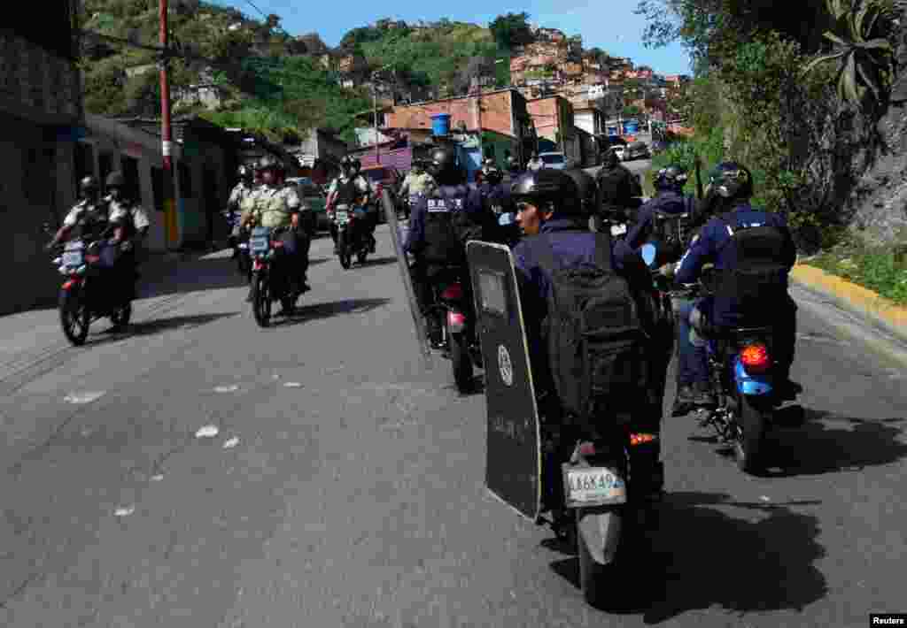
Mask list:
MULTIPOLYGON (((630 600, 634 594, 616 600, 618 612, 641 613, 651 625, 715 605, 741 614, 802 611, 828 592, 814 566, 825 551, 816 541, 817 517, 791 507, 819 503, 744 503, 727 495, 668 494, 651 559, 642 560, 644 553, 630 550, 631 559, 640 558, 629 561, 637 568, 632 574, 619 570, 619 577, 628 579, 628 591, 645 599, 630 600)), ((576 558, 556 561, 551 568, 579 586, 576 558)))

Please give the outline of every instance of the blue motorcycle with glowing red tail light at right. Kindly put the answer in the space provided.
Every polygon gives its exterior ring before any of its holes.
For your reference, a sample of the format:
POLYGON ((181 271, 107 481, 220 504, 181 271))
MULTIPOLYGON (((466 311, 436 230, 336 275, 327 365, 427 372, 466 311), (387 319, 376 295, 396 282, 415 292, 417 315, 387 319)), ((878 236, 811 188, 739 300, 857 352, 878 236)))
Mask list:
MULTIPOLYGON (((640 254, 650 268, 658 268, 657 245, 643 245, 640 254)), ((704 268, 697 285, 686 285, 672 295, 675 299, 708 295, 710 279, 704 268)), ((765 469, 766 432, 775 422, 775 408, 780 405, 772 357, 775 330, 771 326, 716 328, 696 308, 689 324, 691 342, 706 347, 717 398, 714 408, 697 410, 699 424, 716 430, 718 438, 733 447, 740 470, 756 475, 765 469)))

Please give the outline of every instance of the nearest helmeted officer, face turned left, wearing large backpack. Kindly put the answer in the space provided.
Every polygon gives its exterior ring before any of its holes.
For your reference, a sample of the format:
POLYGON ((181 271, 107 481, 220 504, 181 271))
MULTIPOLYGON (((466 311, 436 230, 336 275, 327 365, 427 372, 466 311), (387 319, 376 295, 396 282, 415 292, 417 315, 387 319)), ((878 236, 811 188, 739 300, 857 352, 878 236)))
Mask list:
MULTIPOLYGON (((528 236, 513 249, 513 258, 530 347, 532 379, 536 382, 536 390, 541 391, 540 411, 547 416, 549 424, 557 423, 560 410, 553 401, 555 398, 553 381, 541 338, 541 321, 548 314, 548 293, 553 280, 551 269, 544 268, 539 263, 541 256, 536 253, 536 247, 548 246, 550 243, 553 256, 561 268, 594 265, 596 246, 600 246, 599 237, 589 230, 589 217, 583 211, 576 183, 561 170, 541 169, 538 172, 527 172, 513 183, 512 198, 519 212, 517 220, 523 233, 528 236)), ((610 256, 611 267, 627 279, 634 300, 639 304, 641 322, 649 330, 654 329, 655 313, 651 302, 652 282, 649 269, 639 256, 620 256, 619 251, 613 247, 610 256)), ((653 401, 640 400, 639 415, 634 421, 637 430, 659 433, 660 405, 653 401)), ((575 442, 569 439, 562 439, 560 445, 563 450, 554 453, 553 459, 561 461, 567 459, 569 452, 564 455, 565 451, 574 444, 575 442)), ((551 452, 549 454, 551 455, 551 452)), ((654 465, 653 469, 656 469, 650 493, 658 494, 664 474, 658 462, 658 451, 654 452, 654 456, 655 459, 649 461, 654 465)), ((545 469, 548 469, 544 482, 547 504, 548 507, 556 508, 559 504, 558 490, 560 490, 560 482, 555 479, 557 469, 553 469, 551 464, 546 464, 545 469)))

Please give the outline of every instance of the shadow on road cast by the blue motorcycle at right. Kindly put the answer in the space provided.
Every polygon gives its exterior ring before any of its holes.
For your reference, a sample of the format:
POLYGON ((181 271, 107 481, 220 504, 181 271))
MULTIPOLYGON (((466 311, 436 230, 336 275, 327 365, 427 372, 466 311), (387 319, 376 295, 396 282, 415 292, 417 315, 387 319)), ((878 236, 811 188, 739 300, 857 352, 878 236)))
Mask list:
POLYGON ((805 409, 803 426, 775 430, 769 444, 768 475, 790 477, 859 470, 907 456, 900 439, 907 417, 858 419, 805 409))

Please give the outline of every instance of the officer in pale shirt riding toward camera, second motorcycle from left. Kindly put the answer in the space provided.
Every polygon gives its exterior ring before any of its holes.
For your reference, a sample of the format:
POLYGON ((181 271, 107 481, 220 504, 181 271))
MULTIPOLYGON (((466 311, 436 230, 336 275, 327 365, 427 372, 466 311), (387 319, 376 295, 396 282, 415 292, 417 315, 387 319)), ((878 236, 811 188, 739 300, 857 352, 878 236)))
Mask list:
MULTIPOLYGON (((284 250, 293 258, 292 278, 296 282, 296 298, 311 288, 307 284, 308 271, 308 234, 301 228, 299 213, 303 209, 302 201, 295 188, 284 186, 283 168, 277 159, 266 155, 258 160, 258 172, 262 185, 252 195, 254 206, 244 225, 255 222, 259 227, 276 229, 292 227, 282 236, 284 250)), ((252 286, 249 285, 247 301, 252 299, 252 286)), ((296 299, 293 299, 294 303, 296 299)), ((289 313, 285 313, 289 314, 289 313)))

